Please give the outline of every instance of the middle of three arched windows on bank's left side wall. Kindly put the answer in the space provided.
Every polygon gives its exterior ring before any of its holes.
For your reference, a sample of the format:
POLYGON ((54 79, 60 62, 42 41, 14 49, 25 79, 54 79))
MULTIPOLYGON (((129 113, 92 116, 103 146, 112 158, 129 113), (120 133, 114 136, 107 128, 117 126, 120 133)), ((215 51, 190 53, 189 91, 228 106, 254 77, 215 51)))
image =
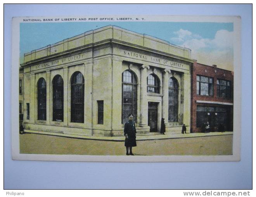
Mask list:
POLYGON ((52 80, 52 120, 63 122, 63 79, 61 75, 56 75, 52 80))

